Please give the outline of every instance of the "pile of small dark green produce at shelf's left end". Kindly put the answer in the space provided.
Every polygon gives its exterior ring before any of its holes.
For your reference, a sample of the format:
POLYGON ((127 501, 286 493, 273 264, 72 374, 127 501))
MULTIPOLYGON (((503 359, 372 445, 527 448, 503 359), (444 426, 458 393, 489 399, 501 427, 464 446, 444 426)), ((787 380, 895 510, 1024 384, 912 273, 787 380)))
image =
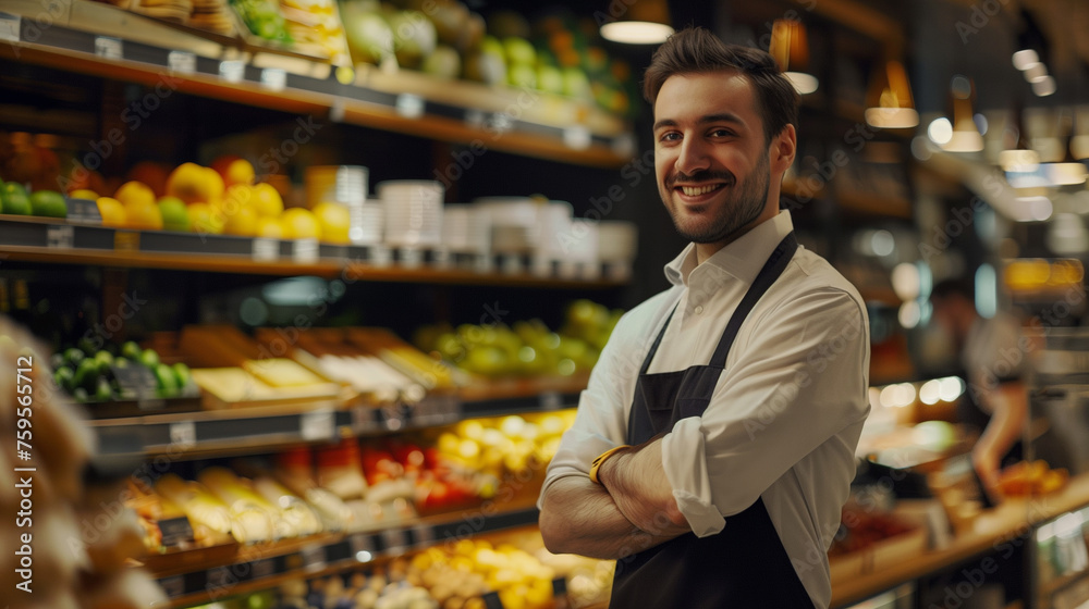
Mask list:
POLYGON ((53 380, 79 402, 175 398, 199 395, 189 368, 163 363, 155 349, 130 340, 101 348, 91 340, 62 348, 50 358, 53 380))

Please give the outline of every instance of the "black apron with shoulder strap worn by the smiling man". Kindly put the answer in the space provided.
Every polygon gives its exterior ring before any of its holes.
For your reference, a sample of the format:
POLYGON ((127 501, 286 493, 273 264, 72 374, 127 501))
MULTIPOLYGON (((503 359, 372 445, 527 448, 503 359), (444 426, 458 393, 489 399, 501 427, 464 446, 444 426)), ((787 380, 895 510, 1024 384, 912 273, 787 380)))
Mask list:
MULTIPOLYGON (((703 413, 742 322, 782 274, 797 247, 794 233, 779 244, 730 318, 708 365, 647 373, 669 326, 666 320, 639 371, 627 444, 641 444, 671 430, 681 419, 703 413)), ((727 518, 726 526, 718 535, 699 538, 686 533, 617 560, 610 607, 812 609, 813 605, 763 500, 757 499, 741 513, 727 518)))

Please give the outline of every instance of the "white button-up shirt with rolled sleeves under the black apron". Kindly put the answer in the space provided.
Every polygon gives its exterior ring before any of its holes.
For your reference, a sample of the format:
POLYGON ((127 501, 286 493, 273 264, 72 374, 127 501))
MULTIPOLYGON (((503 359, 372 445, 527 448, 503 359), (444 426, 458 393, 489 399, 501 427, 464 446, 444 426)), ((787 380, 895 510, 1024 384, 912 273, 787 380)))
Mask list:
MULTIPOLYGON (((616 324, 549 464, 542 497, 556 480, 586 476, 595 457, 625 444, 639 368, 674 303, 650 373, 709 362, 730 315, 792 229, 783 211, 702 264, 689 245, 665 266, 673 287, 616 324)), ((869 359, 861 297, 799 247, 742 324, 703 415, 678 421, 662 440, 665 473, 693 532, 719 533, 762 497, 818 608, 831 599, 827 551, 869 412, 869 359)))

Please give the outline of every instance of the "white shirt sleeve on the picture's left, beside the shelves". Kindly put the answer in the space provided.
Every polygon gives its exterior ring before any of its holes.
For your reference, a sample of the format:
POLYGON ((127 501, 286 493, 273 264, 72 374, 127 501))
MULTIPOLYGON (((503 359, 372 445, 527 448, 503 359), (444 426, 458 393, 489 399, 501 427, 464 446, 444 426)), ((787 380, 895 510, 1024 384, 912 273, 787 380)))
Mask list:
POLYGON ((575 422, 563 434, 549 463, 538 508, 556 480, 571 475, 585 477, 598 455, 624 444, 635 381, 649 350, 647 335, 663 321, 661 311, 670 298, 675 300, 676 294, 662 293, 628 311, 616 323, 590 373, 586 390, 579 396, 575 422))

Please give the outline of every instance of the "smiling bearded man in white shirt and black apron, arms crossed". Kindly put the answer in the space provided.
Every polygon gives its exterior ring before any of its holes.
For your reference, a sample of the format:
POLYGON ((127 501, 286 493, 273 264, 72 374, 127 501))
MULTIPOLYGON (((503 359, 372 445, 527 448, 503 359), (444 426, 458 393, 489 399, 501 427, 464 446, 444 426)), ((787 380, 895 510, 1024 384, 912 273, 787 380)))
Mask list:
POLYGON ((701 28, 656 51, 644 92, 658 188, 692 244, 601 353, 549 465, 541 534, 616 559, 612 607, 827 607, 869 326, 779 209, 797 94, 767 53, 701 28))

